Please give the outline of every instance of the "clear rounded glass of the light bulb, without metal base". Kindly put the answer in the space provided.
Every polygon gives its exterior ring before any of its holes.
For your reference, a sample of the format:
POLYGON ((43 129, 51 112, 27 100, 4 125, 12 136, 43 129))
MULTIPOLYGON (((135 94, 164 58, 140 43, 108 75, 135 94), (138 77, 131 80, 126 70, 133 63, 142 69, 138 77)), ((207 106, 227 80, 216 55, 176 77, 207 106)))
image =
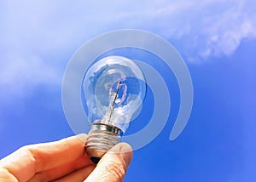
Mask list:
POLYGON ((143 72, 132 60, 108 56, 96 61, 84 75, 84 111, 90 122, 114 126, 125 133, 141 111, 145 92, 143 72))

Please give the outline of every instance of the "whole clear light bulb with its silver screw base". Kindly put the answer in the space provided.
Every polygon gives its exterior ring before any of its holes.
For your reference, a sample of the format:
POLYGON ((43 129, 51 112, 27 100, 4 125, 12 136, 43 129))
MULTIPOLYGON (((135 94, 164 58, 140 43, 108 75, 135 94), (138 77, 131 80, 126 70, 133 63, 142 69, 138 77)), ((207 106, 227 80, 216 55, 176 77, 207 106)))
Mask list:
POLYGON ((82 99, 91 123, 85 150, 92 162, 119 142, 141 111, 145 92, 143 72, 125 57, 102 58, 86 71, 82 99))

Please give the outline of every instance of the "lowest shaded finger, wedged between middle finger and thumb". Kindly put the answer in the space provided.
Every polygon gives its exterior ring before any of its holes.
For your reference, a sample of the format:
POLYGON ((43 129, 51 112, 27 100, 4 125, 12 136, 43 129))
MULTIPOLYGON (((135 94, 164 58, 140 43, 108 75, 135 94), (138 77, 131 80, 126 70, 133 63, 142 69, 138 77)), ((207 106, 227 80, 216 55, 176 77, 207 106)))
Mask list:
POLYGON ((79 170, 68 174, 67 176, 55 180, 55 182, 70 182, 70 181, 84 181, 88 177, 88 175, 93 171, 95 168, 94 164, 87 166, 85 168, 80 168, 79 170))

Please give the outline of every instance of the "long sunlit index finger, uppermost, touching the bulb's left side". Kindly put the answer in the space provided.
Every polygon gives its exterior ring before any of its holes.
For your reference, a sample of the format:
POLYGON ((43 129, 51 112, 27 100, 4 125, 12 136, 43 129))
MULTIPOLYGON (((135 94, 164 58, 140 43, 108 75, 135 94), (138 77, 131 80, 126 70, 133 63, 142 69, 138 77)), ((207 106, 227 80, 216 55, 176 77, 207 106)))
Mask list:
POLYGON ((86 138, 86 134, 79 134, 51 143, 27 145, 1 160, 0 167, 19 181, 26 181, 35 173, 79 159, 84 155, 86 138))

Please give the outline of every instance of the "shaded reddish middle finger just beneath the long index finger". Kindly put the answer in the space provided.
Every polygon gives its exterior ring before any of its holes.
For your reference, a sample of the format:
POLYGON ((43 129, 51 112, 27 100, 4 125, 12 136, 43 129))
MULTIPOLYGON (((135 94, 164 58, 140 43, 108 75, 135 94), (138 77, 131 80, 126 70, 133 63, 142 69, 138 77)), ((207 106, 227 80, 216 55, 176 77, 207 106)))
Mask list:
POLYGON ((69 162, 60 167, 51 168, 49 170, 36 173, 32 179, 29 180, 29 182, 52 181, 54 179, 59 179, 68 173, 72 173, 73 171, 88 167, 90 165, 95 166, 93 162, 90 161, 90 158, 87 156, 87 154, 84 154, 84 156, 80 157, 77 161, 69 162))

